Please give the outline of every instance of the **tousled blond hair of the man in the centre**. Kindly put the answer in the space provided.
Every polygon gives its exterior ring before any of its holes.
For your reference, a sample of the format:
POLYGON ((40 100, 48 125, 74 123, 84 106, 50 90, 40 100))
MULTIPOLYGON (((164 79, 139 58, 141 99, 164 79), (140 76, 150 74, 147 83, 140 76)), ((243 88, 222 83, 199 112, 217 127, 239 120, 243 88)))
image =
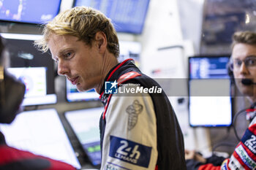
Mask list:
POLYGON ((45 25, 43 38, 34 42, 42 52, 46 52, 51 34, 72 35, 90 45, 98 31, 104 32, 107 37, 107 48, 116 57, 119 55, 119 44, 116 30, 110 19, 102 12, 91 7, 74 7, 59 13, 52 21, 45 25))

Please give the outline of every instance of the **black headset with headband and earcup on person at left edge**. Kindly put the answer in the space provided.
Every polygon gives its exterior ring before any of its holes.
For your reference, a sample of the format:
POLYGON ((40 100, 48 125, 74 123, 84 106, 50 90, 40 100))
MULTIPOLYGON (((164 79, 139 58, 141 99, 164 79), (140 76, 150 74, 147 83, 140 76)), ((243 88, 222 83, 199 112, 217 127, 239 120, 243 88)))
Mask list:
POLYGON ((0 123, 12 123, 25 94, 25 85, 4 69, 4 39, 0 36, 0 123))

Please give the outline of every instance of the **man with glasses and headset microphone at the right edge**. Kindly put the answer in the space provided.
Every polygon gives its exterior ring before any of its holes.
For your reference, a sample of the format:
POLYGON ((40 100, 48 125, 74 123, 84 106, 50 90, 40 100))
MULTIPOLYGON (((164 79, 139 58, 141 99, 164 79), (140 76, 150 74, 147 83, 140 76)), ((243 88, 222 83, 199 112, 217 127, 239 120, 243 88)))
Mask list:
POLYGON ((230 158, 214 156, 205 159, 194 151, 185 151, 188 170, 256 169, 256 33, 239 31, 233 34, 229 69, 238 90, 248 98, 251 109, 249 127, 230 158))

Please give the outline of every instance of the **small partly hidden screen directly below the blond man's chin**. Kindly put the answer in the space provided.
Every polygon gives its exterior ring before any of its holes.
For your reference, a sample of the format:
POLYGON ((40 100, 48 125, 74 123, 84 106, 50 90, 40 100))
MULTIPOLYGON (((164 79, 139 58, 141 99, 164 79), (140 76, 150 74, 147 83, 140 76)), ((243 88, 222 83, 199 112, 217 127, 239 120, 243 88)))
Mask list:
POLYGON ((66 79, 66 98, 67 101, 96 101, 99 100, 99 94, 91 89, 85 92, 79 92, 76 85, 72 85, 69 80, 66 79))

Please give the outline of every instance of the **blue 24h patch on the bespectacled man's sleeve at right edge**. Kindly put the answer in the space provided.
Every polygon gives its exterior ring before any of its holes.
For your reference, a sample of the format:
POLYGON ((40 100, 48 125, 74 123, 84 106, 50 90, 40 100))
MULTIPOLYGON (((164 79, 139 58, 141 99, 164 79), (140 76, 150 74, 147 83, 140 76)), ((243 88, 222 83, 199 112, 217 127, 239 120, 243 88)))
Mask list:
POLYGON ((252 132, 249 131, 249 129, 246 129, 244 136, 241 139, 241 142, 243 142, 244 145, 248 147, 250 151, 256 154, 256 136, 255 134, 252 134, 252 132))

